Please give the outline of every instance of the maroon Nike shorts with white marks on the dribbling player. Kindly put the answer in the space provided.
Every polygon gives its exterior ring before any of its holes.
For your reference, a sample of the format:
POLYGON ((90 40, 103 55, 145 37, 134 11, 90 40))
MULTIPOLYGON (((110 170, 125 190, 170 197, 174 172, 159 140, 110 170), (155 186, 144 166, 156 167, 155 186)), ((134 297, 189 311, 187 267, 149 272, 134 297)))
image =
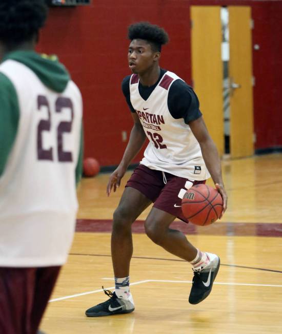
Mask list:
POLYGON ((153 203, 153 207, 163 210, 185 222, 188 220, 183 216, 181 201, 185 192, 193 185, 206 183, 194 181, 169 173, 151 170, 143 164, 139 164, 126 187, 131 186, 144 194, 153 203))

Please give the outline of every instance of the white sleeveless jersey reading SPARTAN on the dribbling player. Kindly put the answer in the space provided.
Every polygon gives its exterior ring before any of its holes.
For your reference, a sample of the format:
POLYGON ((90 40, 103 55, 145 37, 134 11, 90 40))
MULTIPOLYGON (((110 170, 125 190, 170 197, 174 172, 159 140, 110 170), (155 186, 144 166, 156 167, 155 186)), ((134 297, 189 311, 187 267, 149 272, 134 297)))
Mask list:
POLYGON ((168 109, 169 89, 177 79, 166 72, 145 101, 139 94, 138 76, 131 76, 130 101, 149 139, 140 163, 190 180, 206 180, 210 175, 198 141, 184 119, 173 118, 168 109))

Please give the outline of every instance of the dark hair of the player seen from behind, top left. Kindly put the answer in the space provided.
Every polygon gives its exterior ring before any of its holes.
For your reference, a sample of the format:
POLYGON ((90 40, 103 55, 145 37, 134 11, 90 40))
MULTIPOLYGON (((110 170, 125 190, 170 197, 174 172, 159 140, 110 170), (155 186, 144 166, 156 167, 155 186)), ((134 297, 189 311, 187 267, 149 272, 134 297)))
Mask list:
POLYGON ((31 40, 47 14, 46 0, 0 0, 0 41, 12 48, 31 40))

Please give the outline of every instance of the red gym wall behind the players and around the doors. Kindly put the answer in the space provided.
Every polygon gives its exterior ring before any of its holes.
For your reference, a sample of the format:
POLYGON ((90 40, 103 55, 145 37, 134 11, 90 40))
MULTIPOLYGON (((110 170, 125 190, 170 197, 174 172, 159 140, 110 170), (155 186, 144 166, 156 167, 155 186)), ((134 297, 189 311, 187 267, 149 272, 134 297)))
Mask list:
POLYGON ((259 45, 253 50, 255 149, 282 147, 282 1, 93 0, 86 7, 50 9, 38 45, 59 56, 82 91, 85 157, 116 165, 126 148, 122 131, 129 137, 132 118, 120 83, 130 74, 128 25, 147 20, 164 27, 171 41, 160 65, 191 84, 191 5, 252 7, 253 45, 259 45))

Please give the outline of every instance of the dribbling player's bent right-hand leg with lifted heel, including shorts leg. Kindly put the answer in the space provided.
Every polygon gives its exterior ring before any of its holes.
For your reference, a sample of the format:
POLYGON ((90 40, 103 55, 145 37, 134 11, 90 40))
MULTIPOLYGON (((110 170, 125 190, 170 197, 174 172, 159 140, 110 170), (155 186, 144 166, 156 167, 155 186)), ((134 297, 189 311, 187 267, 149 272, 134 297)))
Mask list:
POLYGON ((197 304, 211 292, 220 265, 219 257, 195 248, 183 233, 169 228, 169 225, 173 217, 185 221, 181 210, 182 197, 193 184, 205 181, 191 181, 167 173, 166 176, 167 184, 146 220, 146 231, 155 243, 192 264, 194 277, 189 302, 197 304))

